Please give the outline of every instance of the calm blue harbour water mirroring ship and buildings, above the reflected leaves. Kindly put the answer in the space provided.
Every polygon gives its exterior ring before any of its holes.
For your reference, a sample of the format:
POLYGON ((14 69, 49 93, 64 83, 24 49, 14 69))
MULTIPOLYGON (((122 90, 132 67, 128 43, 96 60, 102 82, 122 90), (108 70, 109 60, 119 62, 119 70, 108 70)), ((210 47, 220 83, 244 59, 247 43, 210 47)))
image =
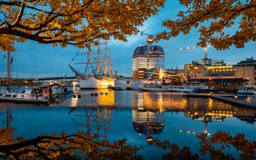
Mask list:
MULTIPOLYGON (((6 103, 0 107, 2 128, 14 127, 15 136, 25 138, 82 130, 99 134, 99 140, 127 138, 134 145, 148 145, 148 137, 170 140, 192 151, 199 147, 196 134, 211 135, 217 130, 256 140, 255 109, 177 93, 90 90, 81 92, 81 99, 49 107, 6 103)), ((153 146, 147 151, 157 153, 153 146)))

